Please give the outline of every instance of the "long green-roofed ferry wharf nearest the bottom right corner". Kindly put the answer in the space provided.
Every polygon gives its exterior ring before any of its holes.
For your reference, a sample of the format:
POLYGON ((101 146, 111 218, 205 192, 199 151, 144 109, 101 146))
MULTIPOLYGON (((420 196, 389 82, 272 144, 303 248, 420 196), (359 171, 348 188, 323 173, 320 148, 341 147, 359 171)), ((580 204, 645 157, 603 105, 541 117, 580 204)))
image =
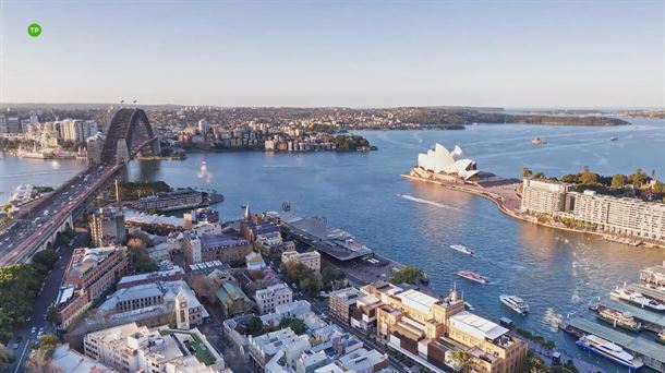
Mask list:
POLYGON ((578 337, 593 334, 607 339, 615 345, 621 346, 626 351, 640 357, 644 365, 658 372, 665 372, 665 346, 658 345, 655 341, 633 337, 581 317, 567 321, 566 325, 561 328, 578 337))

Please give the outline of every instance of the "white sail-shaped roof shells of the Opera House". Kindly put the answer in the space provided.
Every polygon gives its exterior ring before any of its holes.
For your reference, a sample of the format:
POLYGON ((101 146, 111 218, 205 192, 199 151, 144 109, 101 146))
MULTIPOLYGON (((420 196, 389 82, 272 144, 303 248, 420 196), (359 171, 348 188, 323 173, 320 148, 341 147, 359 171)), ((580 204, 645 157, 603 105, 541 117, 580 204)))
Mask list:
POLYGON ((464 180, 479 173, 475 161, 464 158, 464 153, 457 145, 452 152, 442 144, 434 145, 434 149, 418 155, 418 167, 434 173, 457 175, 464 180))

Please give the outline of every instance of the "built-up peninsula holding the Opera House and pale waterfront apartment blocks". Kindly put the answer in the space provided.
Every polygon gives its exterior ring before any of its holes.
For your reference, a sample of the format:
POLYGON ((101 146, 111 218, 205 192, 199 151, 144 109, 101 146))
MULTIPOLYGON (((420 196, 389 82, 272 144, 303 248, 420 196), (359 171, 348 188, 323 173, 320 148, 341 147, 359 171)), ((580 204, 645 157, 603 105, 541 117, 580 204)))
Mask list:
POLYGON ((534 176, 525 169, 520 181, 480 171, 459 146, 450 152, 436 144, 420 154, 418 165, 401 177, 483 196, 506 215, 524 221, 636 246, 665 248, 665 226, 651 224, 665 220, 665 203, 653 202, 663 201, 665 188, 640 169, 631 176, 613 178, 584 169, 563 181, 545 179, 542 173, 534 176), (603 180, 610 181, 604 184, 603 180), (629 192, 633 197, 626 196, 629 192))

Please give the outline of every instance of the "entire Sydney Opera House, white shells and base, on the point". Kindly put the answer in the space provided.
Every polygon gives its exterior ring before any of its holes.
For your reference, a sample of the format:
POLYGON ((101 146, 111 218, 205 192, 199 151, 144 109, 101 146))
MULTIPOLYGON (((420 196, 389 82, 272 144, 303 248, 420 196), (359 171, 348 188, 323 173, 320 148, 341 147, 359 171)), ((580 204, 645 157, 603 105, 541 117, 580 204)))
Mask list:
POLYGON ((418 167, 411 172, 421 178, 451 182, 476 181, 480 173, 475 161, 464 158, 464 153, 459 146, 456 145, 450 152, 442 144, 436 144, 427 153, 419 154, 418 167))

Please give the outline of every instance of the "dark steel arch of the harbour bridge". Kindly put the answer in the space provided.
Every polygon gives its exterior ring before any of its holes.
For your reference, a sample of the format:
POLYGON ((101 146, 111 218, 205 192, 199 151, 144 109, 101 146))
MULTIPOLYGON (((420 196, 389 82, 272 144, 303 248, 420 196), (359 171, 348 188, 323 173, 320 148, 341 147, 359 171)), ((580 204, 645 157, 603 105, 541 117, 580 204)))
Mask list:
POLYGON ((154 155, 159 155, 159 140, 147 115, 142 109, 123 108, 116 112, 106 131, 101 161, 129 161, 148 146, 154 155))

